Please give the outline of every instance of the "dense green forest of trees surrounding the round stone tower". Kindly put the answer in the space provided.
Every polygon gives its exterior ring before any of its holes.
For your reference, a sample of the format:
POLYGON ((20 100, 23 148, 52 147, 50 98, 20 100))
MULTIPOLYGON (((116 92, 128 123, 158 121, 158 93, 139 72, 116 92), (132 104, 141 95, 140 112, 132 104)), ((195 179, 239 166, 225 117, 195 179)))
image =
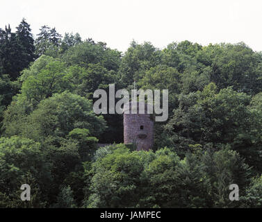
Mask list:
POLYGON ((262 207, 261 89, 262 52, 244 42, 121 52, 47 25, 33 37, 26 19, 2 27, 0 207, 262 207), (169 92, 150 151, 123 143, 122 115, 93 112, 96 89, 134 81, 169 92))

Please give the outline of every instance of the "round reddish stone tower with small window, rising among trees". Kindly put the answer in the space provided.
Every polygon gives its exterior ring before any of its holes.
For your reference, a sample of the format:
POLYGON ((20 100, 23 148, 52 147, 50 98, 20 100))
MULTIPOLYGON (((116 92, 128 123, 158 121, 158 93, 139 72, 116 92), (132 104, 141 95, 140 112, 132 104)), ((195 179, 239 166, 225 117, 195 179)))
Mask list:
POLYGON ((152 114, 147 114, 145 103, 145 114, 139 113, 139 102, 137 103, 137 114, 132 114, 132 103, 124 105, 124 144, 136 144, 137 150, 149 151, 154 143, 154 119, 152 114), (129 114, 126 113, 129 110, 129 114))

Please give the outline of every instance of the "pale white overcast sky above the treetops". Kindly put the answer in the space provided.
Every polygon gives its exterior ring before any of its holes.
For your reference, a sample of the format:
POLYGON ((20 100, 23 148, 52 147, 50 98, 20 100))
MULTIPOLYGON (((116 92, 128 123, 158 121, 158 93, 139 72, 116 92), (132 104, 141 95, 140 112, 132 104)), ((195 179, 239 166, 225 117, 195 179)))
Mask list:
POLYGON ((262 51, 261 0, 1 0, 0 27, 13 31, 25 17, 36 35, 40 26, 60 34, 78 32, 113 49, 149 41, 163 48, 190 40, 206 45, 245 42, 262 51))

